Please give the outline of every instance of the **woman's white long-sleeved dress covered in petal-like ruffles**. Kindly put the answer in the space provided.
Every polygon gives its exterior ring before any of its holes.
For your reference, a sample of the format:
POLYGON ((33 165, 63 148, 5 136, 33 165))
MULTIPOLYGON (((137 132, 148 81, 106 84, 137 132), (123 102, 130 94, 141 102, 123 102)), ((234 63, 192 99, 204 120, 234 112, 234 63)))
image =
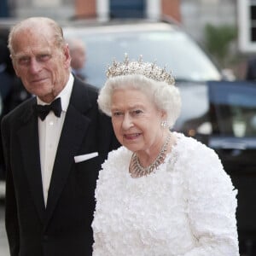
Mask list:
POLYGON ((218 155, 175 133, 166 161, 128 172, 131 151, 108 154, 96 186, 93 256, 237 256, 236 189, 218 155))

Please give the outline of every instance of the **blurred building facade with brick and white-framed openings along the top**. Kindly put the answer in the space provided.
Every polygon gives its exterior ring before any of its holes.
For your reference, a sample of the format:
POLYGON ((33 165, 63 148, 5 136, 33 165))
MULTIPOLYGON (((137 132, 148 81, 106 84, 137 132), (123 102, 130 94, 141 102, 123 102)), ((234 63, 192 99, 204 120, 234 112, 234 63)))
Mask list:
POLYGON ((255 0, 1 0, 0 17, 48 16, 55 20, 167 17, 201 42, 207 24, 239 29, 239 50, 256 52, 255 0))

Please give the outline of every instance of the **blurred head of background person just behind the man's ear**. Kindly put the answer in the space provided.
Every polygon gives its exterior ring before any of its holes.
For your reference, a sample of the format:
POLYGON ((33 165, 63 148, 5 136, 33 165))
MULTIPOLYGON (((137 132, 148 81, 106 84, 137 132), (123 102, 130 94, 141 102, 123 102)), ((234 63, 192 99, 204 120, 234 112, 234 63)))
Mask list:
POLYGON ((84 74, 86 48, 84 42, 79 38, 67 38, 67 44, 71 55, 72 72, 79 79, 85 80, 84 74))

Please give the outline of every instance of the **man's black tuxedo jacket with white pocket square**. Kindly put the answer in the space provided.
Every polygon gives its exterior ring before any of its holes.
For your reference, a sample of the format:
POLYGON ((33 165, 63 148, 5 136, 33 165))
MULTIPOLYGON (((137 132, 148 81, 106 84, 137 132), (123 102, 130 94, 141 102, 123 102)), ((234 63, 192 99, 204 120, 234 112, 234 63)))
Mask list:
POLYGON ((101 164, 119 147, 110 119, 99 112, 97 90, 75 79, 44 207, 36 98, 3 118, 6 230, 11 256, 87 256, 94 191, 101 164), (74 156, 98 152, 75 163, 74 156))

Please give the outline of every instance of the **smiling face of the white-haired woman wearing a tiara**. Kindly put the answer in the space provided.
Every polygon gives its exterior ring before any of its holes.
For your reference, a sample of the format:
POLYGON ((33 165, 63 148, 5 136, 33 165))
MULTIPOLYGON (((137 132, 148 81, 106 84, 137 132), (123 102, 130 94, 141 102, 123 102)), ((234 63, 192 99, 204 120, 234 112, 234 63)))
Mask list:
POLYGON ((112 123, 119 143, 133 152, 150 151, 162 143, 164 113, 136 89, 118 89, 112 96, 112 123))

